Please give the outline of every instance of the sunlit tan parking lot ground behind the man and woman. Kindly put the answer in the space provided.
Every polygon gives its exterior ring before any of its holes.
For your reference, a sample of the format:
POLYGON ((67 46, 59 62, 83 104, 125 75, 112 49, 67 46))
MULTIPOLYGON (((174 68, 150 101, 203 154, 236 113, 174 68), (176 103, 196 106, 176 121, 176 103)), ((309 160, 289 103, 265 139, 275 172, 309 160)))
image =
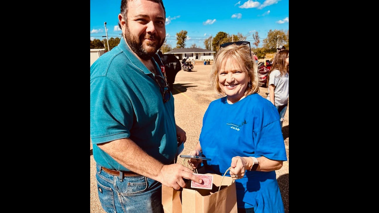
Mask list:
MULTIPOLYGON (((212 61, 211 61, 212 63, 212 61)), ((180 70, 175 77, 172 95, 175 102, 175 120, 177 125, 186 131, 187 141, 182 154, 188 154, 193 150, 199 140, 202 127, 202 118, 207 110, 209 103, 219 97, 210 86, 209 73, 211 65, 204 65, 202 61, 196 61, 192 72, 180 70)), ((267 88, 260 87, 259 94, 267 97, 267 88)), ((288 164, 289 164, 289 136, 288 136, 288 115, 289 104, 283 121, 283 138, 287 150, 288 160, 283 162, 283 167, 276 171, 277 180, 282 194, 285 212, 288 213, 288 164)), ((99 197, 97 195, 97 184, 95 177, 95 161, 92 155, 92 144, 90 141, 90 212, 105 213, 101 207, 99 197)), ((178 163, 182 163, 178 159, 178 163)))

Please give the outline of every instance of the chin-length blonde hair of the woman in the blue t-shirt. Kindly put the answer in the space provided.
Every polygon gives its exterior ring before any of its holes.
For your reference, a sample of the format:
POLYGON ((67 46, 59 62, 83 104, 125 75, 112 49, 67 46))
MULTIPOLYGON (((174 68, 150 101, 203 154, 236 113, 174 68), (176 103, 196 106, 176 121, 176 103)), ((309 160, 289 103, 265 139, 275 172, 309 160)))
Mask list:
POLYGON ((220 88, 218 81, 218 71, 221 67, 225 66, 227 59, 235 61, 236 64, 240 64, 241 70, 246 71, 250 77, 250 85, 246 87, 245 96, 258 93, 258 67, 255 60, 250 56, 249 45, 236 45, 231 44, 227 47, 220 48, 219 52, 216 54, 215 60, 213 61, 210 79, 211 86, 215 90, 216 94, 219 96, 225 96, 226 94, 220 88))

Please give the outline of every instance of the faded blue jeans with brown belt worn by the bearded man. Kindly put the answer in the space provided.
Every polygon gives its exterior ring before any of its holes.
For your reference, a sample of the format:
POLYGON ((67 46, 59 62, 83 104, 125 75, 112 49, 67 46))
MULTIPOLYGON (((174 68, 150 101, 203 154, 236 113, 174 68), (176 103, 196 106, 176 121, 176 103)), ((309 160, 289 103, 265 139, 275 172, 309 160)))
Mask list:
POLYGON ((96 165, 97 193, 108 213, 163 213, 162 185, 145 176, 124 177, 106 173, 96 165))

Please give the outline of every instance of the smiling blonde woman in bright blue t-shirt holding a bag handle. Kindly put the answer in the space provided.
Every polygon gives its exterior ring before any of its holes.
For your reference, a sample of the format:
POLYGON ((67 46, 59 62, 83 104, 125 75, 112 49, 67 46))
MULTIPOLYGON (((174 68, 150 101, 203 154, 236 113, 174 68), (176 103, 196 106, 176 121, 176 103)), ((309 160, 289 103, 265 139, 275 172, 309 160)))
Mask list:
MULTIPOLYGON (((257 64, 247 41, 220 45, 211 83, 220 99, 203 117, 199 143, 191 155, 204 161, 205 173, 236 182, 238 213, 284 213, 275 170, 287 161, 280 117, 275 106, 258 94, 257 64)), ((200 160, 190 160, 197 168, 200 160)))

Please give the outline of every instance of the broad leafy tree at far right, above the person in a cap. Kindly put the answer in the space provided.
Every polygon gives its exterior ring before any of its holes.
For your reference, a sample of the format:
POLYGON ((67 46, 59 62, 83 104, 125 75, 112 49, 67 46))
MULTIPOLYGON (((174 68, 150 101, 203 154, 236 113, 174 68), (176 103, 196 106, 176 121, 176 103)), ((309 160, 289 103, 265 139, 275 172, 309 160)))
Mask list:
POLYGON ((269 30, 267 38, 263 39, 263 48, 268 52, 276 52, 276 48, 280 45, 288 49, 288 33, 283 30, 269 30))

